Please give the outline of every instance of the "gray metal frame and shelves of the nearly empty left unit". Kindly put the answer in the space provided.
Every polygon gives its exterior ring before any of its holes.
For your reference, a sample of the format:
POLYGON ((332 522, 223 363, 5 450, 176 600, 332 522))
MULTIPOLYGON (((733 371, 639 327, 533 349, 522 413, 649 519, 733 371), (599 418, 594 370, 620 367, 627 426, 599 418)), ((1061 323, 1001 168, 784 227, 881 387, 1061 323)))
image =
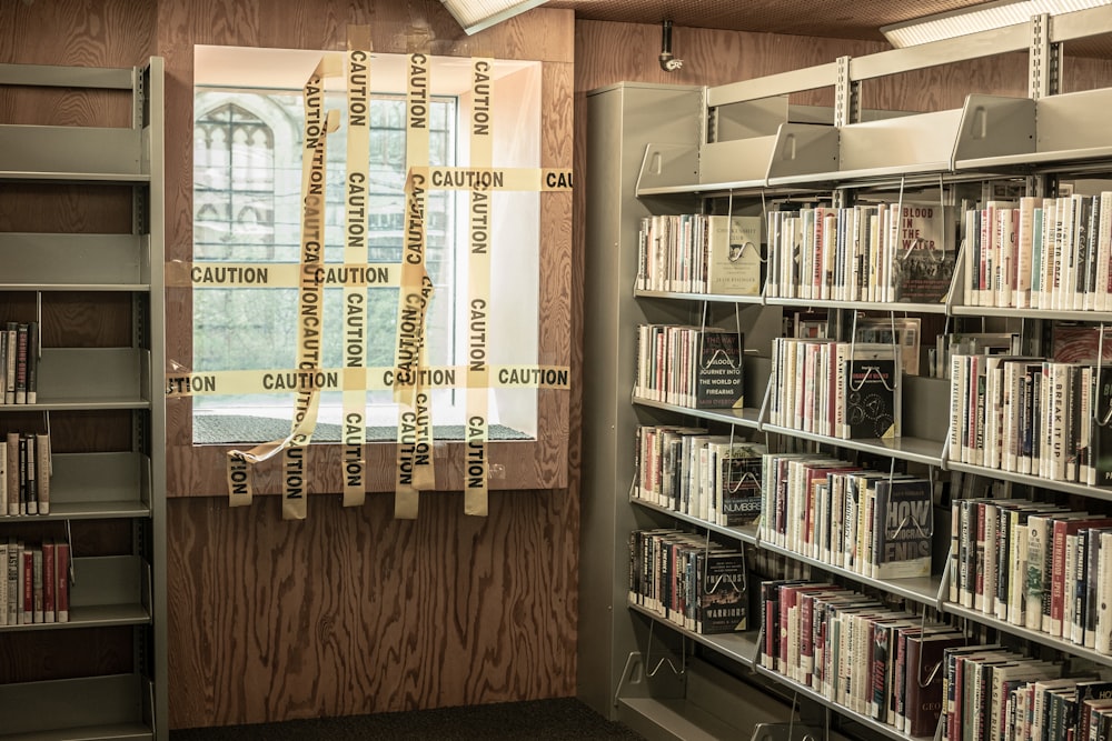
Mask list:
MULTIPOLYGON (((0 86, 130 93, 130 126, 0 124, 0 182, 36 189, 126 187, 131 233, 0 233, 0 291, 112 292, 132 307, 130 347, 48 347, 38 403, 28 412, 126 413, 130 450, 52 457, 51 510, 0 517, 0 533, 32 523, 123 522, 131 552, 85 557, 75 549, 70 620, 0 627, 20 634, 130 628, 129 673, 0 684, 0 738, 169 738, 166 665, 166 375, 163 306, 163 67, 133 69, 0 64, 0 86)), ((93 421, 93 423, 96 423, 93 421)))

